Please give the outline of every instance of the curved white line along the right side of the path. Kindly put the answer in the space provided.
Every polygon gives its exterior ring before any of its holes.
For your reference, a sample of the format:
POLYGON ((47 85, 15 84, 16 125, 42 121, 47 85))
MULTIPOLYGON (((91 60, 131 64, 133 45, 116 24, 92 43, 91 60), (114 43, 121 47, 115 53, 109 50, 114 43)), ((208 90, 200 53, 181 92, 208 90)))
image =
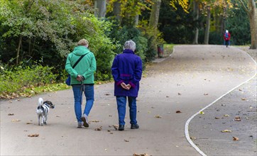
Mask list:
MULTIPOLYGON (((242 50, 243 51, 243 50, 242 50)), ((246 54, 248 55, 248 53, 246 52, 246 54)), ((251 57, 250 55, 248 55, 249 57, 251 57)), ((253 57, 251 57, 251 59, 253 60, 253 57)), ((255 60, 253 60, 253 62, 256 63, 255 60)), ((256 63, 257 65, 257 63, 256 63)), ((255 74, 253 75, 253 77, 256 76, 256 72, 255 74)), ((251 79, 253 79, 253 77, 251 77, 250 79, 246 80, 246 82, 250 81, 251 79)), ((238 86, 234 87, 233 89, 231 89, 230 91, 226 92, 226 94, 229 94, 231 91, 234 91, 234 89, 240 87, 241 85, 245 84, 246 82, 243 82, 241 84, 239 84, 238 86)), ((214 104, 215 102, 217 102, 219 99, 222 99, 222 97, 226 96, 226 94, 220 96, 218 99, 216 99, 215 101, 213 101, 211 104, 209 104, 208 106, 202 108, 200 111, 198 111, 197 113, 195 113, 193 116, 191 116, 187 122, 185 123, 185 137, 187 138, 187 141, 190 143, 190 145, 192 145, 192 147, 195 148, 195 150, 197 150, 197 152, 199 152, 200 155, 202 156, 206 156, 206 154, 204 152, 202 152, 202 150, 199 149, 199 147, 197 147, 197 145, 195 145, 195 143, 192 142, 191 138, 190 138, 190 135, 189 135, 189 132, 188 132, 188 126, 189 126, 189 123, 190 121, 192 120, 192 118, 195 118, 195 116, 197 116, 201 111, 204 111, 204 109, 208 108, 209 106, 212 106, 212 104, 214 104)))

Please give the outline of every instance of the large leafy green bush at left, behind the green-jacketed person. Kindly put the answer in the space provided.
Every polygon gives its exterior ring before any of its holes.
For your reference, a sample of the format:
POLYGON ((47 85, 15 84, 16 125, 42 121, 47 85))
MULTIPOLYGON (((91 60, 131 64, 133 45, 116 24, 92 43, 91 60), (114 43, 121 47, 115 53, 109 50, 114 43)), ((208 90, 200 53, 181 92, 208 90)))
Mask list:
MULTIPOLYGON (((110 51, 116 46, 107 37, 112 23, 98 20, 81 0, 0 3, 0 59, 5 64, 15 65, 13 60, 18 58, 18 62, 31 67, 34 61, 41 60, 41 65, 55 67, 53 73, 62 81, 67 54, 80 39, 89 40, 89 48, 97 56, 101 55, 101 48, 110 51), (19 38, 22 43, 17 55, 19 38)), ((98 69, 103 70, 102 66, 98 69)))

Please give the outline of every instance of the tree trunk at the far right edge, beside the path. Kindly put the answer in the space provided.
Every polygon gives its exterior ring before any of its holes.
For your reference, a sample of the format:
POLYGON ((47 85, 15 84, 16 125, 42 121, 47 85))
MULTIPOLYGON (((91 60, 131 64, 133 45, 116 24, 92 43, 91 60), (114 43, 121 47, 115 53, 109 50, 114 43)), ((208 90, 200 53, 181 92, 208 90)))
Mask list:
POLYGON ((257 9, 254 0, 248 0, 250 29, 251 29, 251 47, 250 49, 257 48, 257 9))

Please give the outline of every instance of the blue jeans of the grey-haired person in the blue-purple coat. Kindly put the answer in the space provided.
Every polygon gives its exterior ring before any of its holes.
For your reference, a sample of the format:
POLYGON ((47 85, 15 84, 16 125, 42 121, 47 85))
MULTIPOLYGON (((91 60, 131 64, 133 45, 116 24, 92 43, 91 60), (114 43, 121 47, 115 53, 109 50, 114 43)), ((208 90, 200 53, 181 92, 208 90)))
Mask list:
MULTIPOLYGON (((118 114, 119 114, 119 125, 125 125, 126 116, 126 96, 116 96, 118 114)), ((136 97, 128 96, 128 107, 129 107, 129 118, 131 124, 136 124, 136 97)))

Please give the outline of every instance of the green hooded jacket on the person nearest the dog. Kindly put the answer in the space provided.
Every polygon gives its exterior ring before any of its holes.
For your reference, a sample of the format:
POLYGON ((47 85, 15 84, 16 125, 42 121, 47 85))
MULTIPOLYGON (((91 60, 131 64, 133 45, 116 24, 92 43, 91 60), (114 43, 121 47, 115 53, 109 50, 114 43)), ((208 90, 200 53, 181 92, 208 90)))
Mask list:
POLYGON ((94 84, 94 72, 97 70, 97 62, 93 52, 90 52, 89 49, 82 45, 75 47, 73 52, 70 52, 67 56, 65 70, 70 74, 70 84, 81 84, 81 82, 77 81, 78 74, 84 77, 83 84, 94 84), (73 69, 72 66, 82 55, 84 57, 73 69))

